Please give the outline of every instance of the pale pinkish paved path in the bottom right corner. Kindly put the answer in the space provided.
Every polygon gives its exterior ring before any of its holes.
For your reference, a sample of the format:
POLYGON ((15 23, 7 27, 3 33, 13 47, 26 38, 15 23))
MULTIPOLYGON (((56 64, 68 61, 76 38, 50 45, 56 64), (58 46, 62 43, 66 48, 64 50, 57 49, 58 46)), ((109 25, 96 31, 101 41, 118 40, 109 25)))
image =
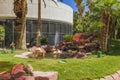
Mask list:
POLYGON ((104 78, 95 79, 95 80, 120 80, 120 71, 117 71, 113 75, 105 76, 104 78))

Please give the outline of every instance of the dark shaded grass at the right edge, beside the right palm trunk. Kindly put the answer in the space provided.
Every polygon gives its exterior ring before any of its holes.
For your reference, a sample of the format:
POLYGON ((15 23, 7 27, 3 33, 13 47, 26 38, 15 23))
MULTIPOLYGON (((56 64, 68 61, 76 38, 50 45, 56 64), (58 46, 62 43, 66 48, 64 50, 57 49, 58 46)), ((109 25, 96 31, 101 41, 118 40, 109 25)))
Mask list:
POLYGON ((120 56, 120 40, 112 41, 111 46, 109 47, 109 55, 120 56))

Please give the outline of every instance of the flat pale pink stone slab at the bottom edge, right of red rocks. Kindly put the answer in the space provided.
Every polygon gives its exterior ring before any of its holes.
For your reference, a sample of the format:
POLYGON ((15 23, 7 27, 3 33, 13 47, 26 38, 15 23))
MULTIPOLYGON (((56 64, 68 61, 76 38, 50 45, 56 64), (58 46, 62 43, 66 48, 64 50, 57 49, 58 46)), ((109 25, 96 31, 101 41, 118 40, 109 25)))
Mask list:
POLYGON ((35 80, 57 80, 58 72, 34 71, 33 76, 35 77, 35 80))

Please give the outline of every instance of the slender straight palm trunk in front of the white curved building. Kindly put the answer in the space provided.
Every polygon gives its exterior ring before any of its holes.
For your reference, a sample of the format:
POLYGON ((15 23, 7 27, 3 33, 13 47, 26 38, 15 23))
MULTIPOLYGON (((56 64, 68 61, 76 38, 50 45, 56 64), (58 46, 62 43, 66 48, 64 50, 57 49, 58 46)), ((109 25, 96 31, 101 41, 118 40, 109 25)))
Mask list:
POLYGON ((38 0, 38 31, 37 31, 37 39, 36 39, 36 46, 41 46, 40 37, 41 37, 41 0, 38 0))

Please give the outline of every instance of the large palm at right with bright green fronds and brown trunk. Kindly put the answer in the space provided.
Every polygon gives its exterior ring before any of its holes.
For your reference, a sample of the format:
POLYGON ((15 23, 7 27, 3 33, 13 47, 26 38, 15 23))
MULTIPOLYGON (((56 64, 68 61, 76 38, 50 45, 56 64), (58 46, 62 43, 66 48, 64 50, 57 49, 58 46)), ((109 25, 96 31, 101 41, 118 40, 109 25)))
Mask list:
MULTIPOLYGON (((81 2, 76 0, 77 5, 81 5, 81 2)), ((92 30, 98 33, 100 48, 103 52, 107 52, 108 43, 111 42, 119 22, 120 2, 118 0, 87 0, 86 6, 89 7, 88 18, 82 17, 82 24, 88 23, 87 31, 92 30)))

